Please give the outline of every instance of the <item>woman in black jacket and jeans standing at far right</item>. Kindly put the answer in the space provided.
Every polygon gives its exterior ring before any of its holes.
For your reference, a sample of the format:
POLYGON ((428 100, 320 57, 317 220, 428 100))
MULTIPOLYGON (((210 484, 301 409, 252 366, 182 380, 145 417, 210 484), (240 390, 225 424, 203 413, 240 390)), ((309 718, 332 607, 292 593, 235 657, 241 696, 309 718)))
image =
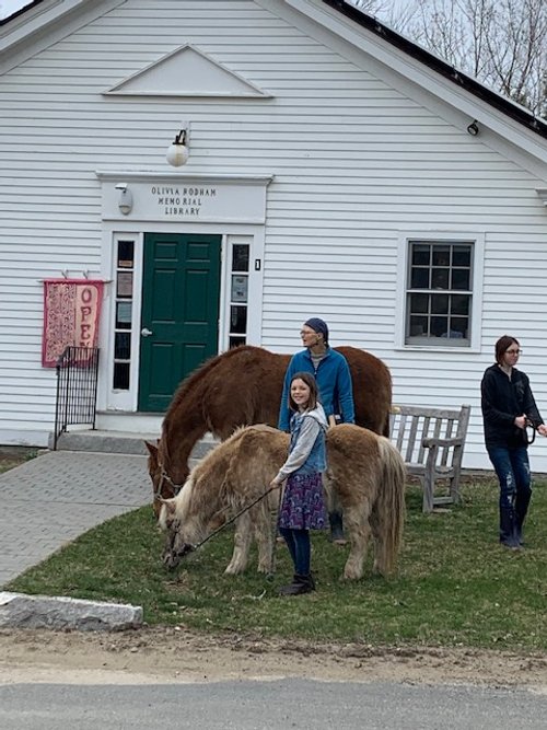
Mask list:
POLYGON ((532 496, 526 426, 547 436, 528 376, 514 367, 521 352, 517 339, 500 337, 496 364, 486 369, 480 385, 486 449, 500 480, 500 543, 512 548, 522 545, 532 496))

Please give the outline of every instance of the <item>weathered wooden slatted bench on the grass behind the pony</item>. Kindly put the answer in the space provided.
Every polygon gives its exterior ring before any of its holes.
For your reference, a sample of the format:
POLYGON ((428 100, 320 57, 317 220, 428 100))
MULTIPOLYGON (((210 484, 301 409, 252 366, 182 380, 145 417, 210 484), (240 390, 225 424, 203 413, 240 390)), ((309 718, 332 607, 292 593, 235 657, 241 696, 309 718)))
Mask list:
POLYGON ((470 406, 459 410, 393 406, 389 433, 408 474, 423 487, 423 511, 459 500, 459 476, 470 406), (435 482, 449 479, 449 495, 435 497, 435 482))

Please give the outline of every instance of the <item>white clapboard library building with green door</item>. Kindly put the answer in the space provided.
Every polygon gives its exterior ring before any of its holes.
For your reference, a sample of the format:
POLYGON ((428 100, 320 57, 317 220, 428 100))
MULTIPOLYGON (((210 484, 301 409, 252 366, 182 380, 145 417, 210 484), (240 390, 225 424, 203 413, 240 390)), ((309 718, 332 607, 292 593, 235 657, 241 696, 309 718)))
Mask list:
POLYGON ((395 403, 469 403, 467 467, 500 335, 547 417, 547 123, 342 0, 32 2, 0 24, 0 443, 48 442, 62 279, 104 282, 102 427, 309 316, 395 403))

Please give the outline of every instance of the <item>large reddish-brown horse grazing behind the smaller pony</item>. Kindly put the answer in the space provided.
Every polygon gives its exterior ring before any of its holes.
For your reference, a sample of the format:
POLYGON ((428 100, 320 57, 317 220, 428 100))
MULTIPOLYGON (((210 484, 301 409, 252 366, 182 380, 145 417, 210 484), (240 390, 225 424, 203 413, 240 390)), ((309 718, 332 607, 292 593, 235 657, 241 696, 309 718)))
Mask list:
MULTIPOLYGON (((388 436, 392 376, 370 352, 337 347, 348 360, 358 426, 388 436)), ((244 345, 218 355, 178 386, 165 414, 161 439, 149 447, 154 495, 173 497, 188 476, 188 459, 197 441, 210 431, 228 439, 252 424, 276 427, 289 355, 244 345)))

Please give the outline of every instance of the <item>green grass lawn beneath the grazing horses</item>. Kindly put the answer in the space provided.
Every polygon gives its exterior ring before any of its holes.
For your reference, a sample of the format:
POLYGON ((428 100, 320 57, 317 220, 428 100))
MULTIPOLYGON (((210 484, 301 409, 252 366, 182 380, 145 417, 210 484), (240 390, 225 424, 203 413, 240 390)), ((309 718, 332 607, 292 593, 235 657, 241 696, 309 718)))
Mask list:
POLYGON ((536 484, 525 549, 497 542, 498 487, 464 484, 463 503, 422 514, 421 490, 407 487, 407 521, 398 572, 342 582, 348 548, 313 535, 317 591, 280 598, 292 576, 277 546, 272 581, 256 573, 224 576, 231 529, 168 572, 163 536, 150 507, 85 533, 5 588, 142 605, 149 624, 265 637, 383 645, 547 649, 547 484, 536 484))

